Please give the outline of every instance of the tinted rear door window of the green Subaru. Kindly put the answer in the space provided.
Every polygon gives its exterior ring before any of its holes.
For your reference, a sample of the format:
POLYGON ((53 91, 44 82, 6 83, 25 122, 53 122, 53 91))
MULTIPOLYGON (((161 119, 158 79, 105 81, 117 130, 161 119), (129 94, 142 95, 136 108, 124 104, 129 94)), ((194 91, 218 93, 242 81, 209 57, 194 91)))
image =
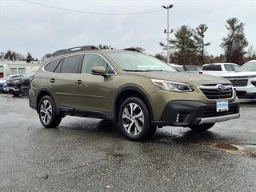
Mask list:
POLYGON ((83 55, 75 55, 64 58, 61 73, 78 74, 83 55))

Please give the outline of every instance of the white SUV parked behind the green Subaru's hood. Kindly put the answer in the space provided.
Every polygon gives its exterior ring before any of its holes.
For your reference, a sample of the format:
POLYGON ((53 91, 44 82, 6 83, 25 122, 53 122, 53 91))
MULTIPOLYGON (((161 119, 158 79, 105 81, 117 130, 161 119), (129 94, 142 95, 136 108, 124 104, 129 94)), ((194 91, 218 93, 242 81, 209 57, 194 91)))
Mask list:
POLYGON ((202 66, 199 74, 211 74, 216 76, 221 76, 222 74, 230 74, 233 72, 242 71, 241 67, 235 63, 210 63, 202 66))

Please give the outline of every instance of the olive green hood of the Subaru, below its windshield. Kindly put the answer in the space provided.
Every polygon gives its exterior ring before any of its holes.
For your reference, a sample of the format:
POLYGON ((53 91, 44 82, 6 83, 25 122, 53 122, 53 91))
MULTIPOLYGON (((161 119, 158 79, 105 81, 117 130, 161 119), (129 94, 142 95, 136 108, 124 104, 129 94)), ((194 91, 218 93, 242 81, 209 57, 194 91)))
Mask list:
POLYGON ((203 83, 230 83, 224 78, 220 78, 213 75, 207 74, 192 74, 186 72, 167 72, 167 71, 153 71, 153 72, 129 72, 129 74, 136 74, 146 78, 155 78, 173 82, 186 82, 192 83, 199 82, 203 83))

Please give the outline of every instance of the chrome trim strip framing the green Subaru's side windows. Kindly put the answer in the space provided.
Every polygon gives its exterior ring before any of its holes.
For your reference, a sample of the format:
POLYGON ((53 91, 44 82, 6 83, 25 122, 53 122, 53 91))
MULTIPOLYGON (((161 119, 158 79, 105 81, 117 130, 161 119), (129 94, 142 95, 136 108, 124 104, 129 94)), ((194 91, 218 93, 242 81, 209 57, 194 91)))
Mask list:
MULTIPOLYGON (((86 55, 86 54, 98 54, 98 53, 77 53, 77 54, 69 54, 69 55, 65 55, 65 56, 63 56, 63 57, 54 58, 54 59, 51 60, 50 62, 54 62, 54 61, 57 60, 57 59, 61 59, 61 60, 62 60, 62 58, 68 58, 68 57, 72 57, 72 56, 76 56, 76 55, 80 55, 80 54, 86 55)), ((100 57, 102 57, 102 58, 106 61, 106 63, 111 67, 112 70, 114 70, 114 67, 110 64, 110 62, 108 62, 108 61, 106 60, 106 58, 104 58, 104 57, 102 56, 102 54, 98 54, 98 55, 99 55, 100 57)), ((45 64, 44 66, 42 66, 41 69, 42 69, 44 72, 46 72, 46 73, 53 73, 53 74, 74 74, 74 73, 55 73, 55 72, 50 72, 50 71, 45 70, 45 67, 46 67, 50 62, 46 62, 46 64, 45 64)), ((82 73, 80 73, 80 74, 82 74, 82 73)), ((118 73, 116 72, 116 70, 114 70, 114 74, 107 74, 107 75, 116 76, 117 74, 118 74, 118 73)))

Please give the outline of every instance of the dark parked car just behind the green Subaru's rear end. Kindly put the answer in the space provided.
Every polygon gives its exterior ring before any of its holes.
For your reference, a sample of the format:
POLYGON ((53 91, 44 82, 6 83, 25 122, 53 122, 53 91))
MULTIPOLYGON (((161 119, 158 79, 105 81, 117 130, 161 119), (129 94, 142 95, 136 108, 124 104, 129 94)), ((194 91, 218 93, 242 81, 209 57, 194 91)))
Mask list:
POLYGON ((13 94, 14 96, 18 96, 19 94, 26 96, 29 94, 30 82, 33 78, 34 72, 27 74, 26 76, 12 78, 7 81, 7 89, 10 94, 13 94))

